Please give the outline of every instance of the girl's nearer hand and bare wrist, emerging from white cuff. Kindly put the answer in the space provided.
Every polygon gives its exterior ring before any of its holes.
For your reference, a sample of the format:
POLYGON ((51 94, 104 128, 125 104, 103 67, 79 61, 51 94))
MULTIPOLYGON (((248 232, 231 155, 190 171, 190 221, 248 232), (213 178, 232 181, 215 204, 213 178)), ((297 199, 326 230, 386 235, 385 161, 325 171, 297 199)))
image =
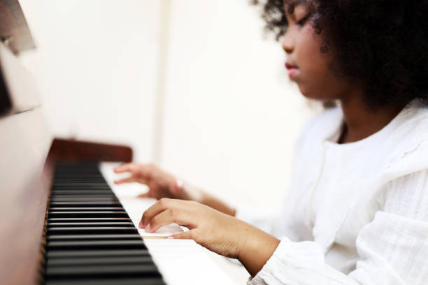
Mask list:
POLYGON ((279 244, 272 235, 244 221, 189 200, 160 199, 144 212, 139 226, 153 233, 172 223, 187 226, 189 231, 171 238, 192 239, 217 254, 238 258, 252 276, 279 244))

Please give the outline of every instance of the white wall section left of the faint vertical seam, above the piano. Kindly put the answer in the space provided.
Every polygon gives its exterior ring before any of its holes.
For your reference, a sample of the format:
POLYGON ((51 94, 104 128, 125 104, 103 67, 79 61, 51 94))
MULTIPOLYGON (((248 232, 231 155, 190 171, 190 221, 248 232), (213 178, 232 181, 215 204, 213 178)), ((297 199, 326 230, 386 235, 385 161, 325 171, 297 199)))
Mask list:
POLYGON ((159 1, 20 0, 37 49, 24 52, 56 136, 122 142, 150 160, 159 1))

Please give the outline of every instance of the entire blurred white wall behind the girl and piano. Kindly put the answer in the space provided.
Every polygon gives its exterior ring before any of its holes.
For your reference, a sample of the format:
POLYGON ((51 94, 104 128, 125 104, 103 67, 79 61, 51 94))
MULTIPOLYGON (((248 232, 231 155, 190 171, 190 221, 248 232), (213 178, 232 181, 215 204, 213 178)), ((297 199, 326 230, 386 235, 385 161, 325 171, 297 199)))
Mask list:
POLYGON ((314 112, 248 0, 20 0, 52 133, 130 145, 231 203, 276 209, 314 112))

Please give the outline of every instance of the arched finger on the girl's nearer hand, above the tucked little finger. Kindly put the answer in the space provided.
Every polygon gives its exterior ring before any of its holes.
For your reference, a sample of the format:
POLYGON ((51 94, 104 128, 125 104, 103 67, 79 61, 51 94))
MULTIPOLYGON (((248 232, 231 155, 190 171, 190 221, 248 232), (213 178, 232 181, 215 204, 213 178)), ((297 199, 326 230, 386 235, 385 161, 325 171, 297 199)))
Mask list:
POLYGON ((187 210, 177 209, 177 208, 169 208, 157 214, 150 221, 150 224, 146 226, 146 231, 150 233, 155 233, 162 226, 167 226, 169 224, 180 224, 187 226, 188 224, 194 222, 195 217, 189 214, 187 210))

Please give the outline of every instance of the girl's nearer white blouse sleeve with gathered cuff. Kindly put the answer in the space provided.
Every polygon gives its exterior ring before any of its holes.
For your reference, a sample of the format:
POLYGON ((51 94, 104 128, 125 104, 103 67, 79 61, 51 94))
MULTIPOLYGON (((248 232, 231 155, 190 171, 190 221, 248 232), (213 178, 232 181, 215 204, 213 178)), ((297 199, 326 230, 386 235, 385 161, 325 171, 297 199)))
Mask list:
POLYGON ((350 274, 327 265, 316 242, 282 238, 248 285, 428 284, 428 170, 392 180, 383 194, 383 207, 357 235, 350 274))

